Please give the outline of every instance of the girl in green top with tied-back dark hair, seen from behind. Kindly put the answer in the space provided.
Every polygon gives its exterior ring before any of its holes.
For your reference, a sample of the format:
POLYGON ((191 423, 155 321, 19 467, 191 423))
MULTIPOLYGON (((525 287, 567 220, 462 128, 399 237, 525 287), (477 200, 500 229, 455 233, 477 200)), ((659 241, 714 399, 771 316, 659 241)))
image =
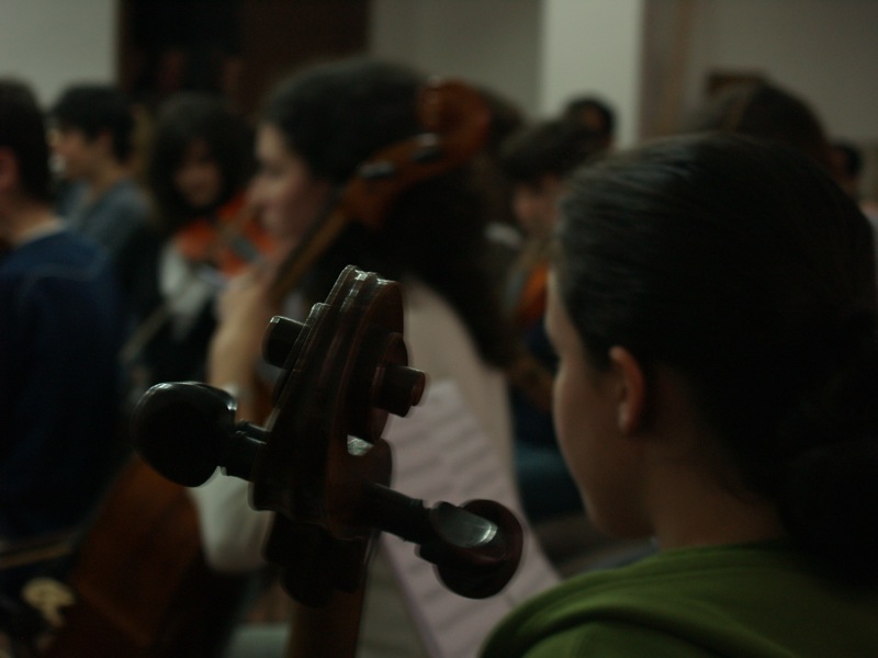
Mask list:
POLYGON ((576 174, 548 327, 589 517, 658 554, 576 577, 484 656, 878 655, 866 219, 791 150, 677 137, 576 174))

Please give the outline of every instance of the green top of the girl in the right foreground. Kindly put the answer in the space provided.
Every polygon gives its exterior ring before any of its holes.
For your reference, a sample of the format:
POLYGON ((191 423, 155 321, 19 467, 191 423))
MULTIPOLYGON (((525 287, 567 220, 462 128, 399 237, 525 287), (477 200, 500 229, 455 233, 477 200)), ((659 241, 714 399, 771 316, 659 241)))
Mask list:
POLYGON ((878 592, 818 575, 781 543, 667 551, 536 597, 482 656, 875 658, 878 592))

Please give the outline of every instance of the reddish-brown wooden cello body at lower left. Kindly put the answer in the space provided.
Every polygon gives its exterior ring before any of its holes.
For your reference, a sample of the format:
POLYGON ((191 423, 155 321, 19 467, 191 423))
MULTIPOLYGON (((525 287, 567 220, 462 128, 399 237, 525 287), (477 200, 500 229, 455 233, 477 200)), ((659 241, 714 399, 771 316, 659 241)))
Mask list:
POLYGON ((215 656, 248 581, 207 567, 185 487, 133 457, 77 549, 46 658, 215 656))

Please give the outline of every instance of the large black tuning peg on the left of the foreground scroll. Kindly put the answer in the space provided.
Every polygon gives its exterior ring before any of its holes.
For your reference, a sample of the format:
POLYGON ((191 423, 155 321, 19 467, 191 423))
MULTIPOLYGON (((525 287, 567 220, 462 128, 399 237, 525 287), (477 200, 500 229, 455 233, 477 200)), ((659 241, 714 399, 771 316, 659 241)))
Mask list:
POLYGON ((132 440, 146 462, 168 479, 204 484, 223 466, 249 479, 263 430, 235 424, 235 398, 199 382, 157 384, 132 413, 132 440))

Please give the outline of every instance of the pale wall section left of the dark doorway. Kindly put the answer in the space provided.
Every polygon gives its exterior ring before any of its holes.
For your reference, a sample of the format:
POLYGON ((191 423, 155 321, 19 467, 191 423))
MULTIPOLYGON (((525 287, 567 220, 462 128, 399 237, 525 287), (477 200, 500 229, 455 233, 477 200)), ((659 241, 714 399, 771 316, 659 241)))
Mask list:
POLYGON ((70 82, 114 81, 115 44, 115 0, 0 0, 0 76, 44 104, 70 82))

